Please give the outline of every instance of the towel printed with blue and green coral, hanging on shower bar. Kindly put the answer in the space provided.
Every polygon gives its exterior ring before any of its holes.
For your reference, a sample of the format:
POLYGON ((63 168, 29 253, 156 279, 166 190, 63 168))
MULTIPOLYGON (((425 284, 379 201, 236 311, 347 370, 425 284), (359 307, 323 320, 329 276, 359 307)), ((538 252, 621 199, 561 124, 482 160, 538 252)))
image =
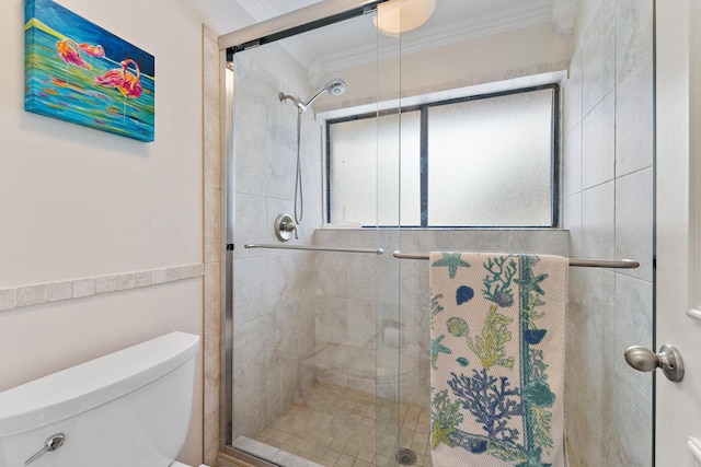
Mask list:
POLYGON ((567 259, 430 254, 435 467, 563 466, 567 259))

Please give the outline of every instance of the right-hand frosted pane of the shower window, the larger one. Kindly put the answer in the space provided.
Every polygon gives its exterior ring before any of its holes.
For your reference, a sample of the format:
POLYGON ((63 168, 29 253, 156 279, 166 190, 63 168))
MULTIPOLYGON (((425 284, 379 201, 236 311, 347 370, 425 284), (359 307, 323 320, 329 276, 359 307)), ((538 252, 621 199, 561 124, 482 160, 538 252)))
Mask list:
POLYGON ((552 94, 428 109, 429 225, 551 225, 552 94))

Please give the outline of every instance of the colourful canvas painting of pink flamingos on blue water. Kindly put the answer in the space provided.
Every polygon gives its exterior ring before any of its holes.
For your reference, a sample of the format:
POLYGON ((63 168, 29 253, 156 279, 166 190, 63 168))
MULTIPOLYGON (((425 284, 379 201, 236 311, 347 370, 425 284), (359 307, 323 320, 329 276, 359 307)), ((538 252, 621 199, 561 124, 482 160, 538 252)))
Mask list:
POLYGON ((24 8, 25 110, 153 141, 153 56, 53 0, 24 8))

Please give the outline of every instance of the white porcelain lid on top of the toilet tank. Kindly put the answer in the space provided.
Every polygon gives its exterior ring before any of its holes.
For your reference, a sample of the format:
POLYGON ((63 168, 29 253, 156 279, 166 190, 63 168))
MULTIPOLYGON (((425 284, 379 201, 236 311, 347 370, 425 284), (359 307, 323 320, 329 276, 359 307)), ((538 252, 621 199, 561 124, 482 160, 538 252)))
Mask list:
POLYGON ((0 437, 82 413, 193 358, 199 336, 171 332, 0 393, 0 437))

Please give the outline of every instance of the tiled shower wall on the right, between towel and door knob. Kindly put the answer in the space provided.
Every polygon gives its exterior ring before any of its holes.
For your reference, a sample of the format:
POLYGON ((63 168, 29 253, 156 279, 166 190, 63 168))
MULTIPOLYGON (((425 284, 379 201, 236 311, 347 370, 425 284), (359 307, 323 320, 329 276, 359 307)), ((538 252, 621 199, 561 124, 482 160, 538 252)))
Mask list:
POLYGON ((572 254, 633 270, 571 275, 565 377, 570 456, 652 465, 652 377, 623 361, 653 337, 653 2, 579 2, 564 92, 564 226, 572 254))

